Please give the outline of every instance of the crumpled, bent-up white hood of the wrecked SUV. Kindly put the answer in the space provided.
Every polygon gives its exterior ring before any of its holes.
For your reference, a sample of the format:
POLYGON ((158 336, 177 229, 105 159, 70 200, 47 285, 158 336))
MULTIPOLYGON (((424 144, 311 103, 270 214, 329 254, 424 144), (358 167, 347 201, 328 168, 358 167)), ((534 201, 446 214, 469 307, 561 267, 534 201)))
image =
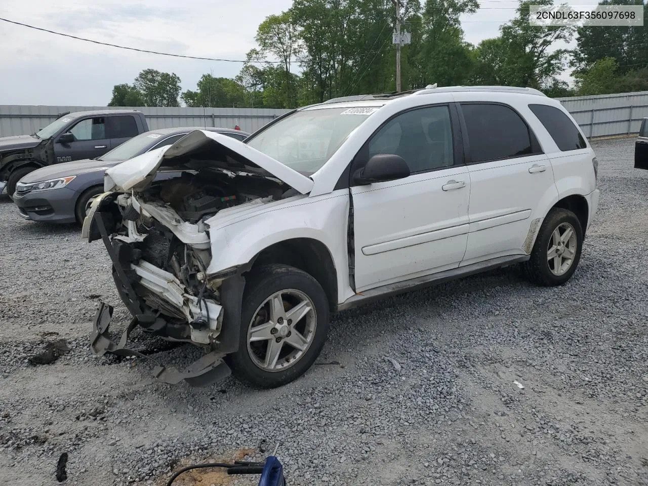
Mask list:
POLYGON ((106 170, 104 191, 141 191, 159 168, 199 170, 214 167, 280 179, 308 194, 312 179, 222 133, 194 130, 173 145, 157 148, 106 170))

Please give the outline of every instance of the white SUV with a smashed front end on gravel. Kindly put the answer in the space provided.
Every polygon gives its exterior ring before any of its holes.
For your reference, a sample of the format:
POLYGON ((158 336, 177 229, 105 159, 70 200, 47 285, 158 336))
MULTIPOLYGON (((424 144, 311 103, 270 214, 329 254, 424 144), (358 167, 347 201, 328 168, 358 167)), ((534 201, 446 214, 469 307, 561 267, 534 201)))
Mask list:
POLYGON ((540 285, 576 270, 599 201, 597 159, 539 91, 443 87, 337 98, 244 143, 197 130, 106 170, 84 222, 134 318, 111 308, 95 353, 136 325, 208 351, 167 382, 285 384, 313 364, 333 312, 521 263, 540 285), (152 183, 159 170, 183 176, 152 183))

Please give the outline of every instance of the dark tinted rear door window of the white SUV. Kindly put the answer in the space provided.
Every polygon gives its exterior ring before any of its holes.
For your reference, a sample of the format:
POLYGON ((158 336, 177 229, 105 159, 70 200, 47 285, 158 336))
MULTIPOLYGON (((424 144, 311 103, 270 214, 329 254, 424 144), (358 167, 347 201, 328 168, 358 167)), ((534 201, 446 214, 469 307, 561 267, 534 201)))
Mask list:
POLYGON ((513 108, 501 104, 461 103, 472 162, 512 159, 539 153, 531 131, 513 108))

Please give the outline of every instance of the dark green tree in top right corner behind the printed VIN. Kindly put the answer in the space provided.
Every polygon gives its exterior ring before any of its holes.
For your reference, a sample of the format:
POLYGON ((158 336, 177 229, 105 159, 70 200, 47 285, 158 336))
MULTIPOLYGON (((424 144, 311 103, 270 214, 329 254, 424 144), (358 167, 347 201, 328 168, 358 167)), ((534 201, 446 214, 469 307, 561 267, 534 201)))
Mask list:
MULTIPOLYGON (((603 0, 599 5, 643 5, 642 0, 603 0)), ((648 4, 643 6, 648 18, 648 4)), ((577 47, 572 51, 572 67, 586 71, 603 58, 613 58, 618 72, 625 74, 648 67, 648 29, 645 26, 579 27, 577 47)))

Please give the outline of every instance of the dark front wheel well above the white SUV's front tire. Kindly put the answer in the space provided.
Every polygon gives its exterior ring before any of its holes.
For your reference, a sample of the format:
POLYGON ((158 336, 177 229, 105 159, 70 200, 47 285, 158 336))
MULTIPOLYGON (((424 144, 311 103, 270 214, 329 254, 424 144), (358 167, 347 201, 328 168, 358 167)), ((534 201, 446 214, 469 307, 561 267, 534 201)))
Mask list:
POLYGON ((267 264, 294 266, 312 276, 324 289, 331 312, 338 305, 338 278, 333 256, 327 246, 315 238, 289 238, 259 251, 251 260, 251 269, 267 264))

